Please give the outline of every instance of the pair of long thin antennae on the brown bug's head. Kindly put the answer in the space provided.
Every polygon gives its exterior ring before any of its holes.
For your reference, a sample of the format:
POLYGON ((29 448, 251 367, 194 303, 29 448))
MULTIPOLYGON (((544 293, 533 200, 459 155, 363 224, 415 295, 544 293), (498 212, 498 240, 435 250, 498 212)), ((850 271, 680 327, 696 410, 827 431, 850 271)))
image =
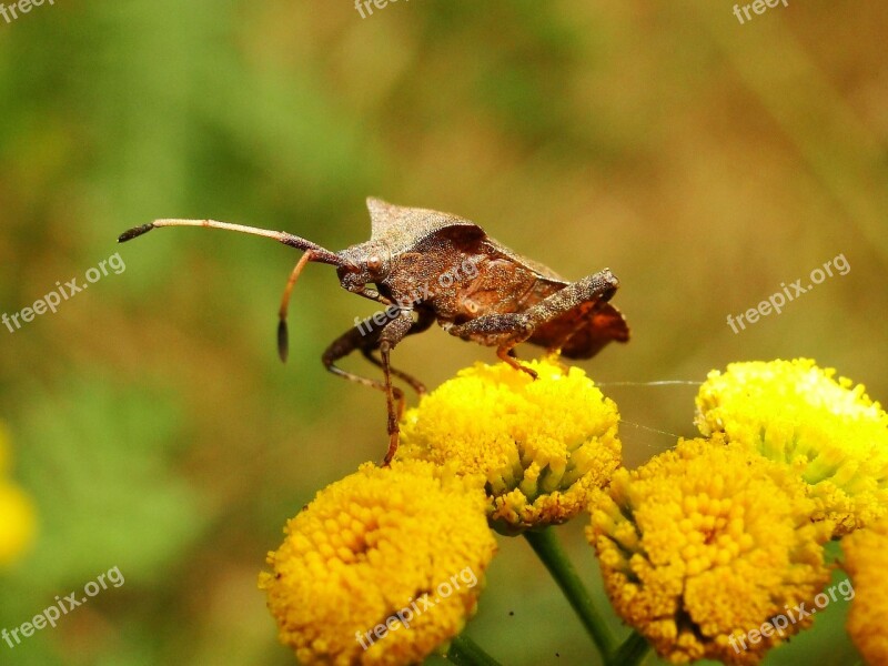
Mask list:
POLYGON ((269 229, 245 226, 243 224, 216 222, 215 220, 154 220, 148 224, 134 226, 128 231, 124 231, 122 234, 120 234, 120 236, 118 236, 118 242, 125 243, 127 241, 131 241, 132 239, 148 233, 152 229, 159 229, 161 226, 204 226, 206 229, 236 231, 239 233, 249 233, 251 235, 271 239, 290 248, 295 248, 296 250, 302 250, 305 252, 305 254, 303 254, 299 260, 299 263, 296 263, 293 272, 290 274, 290 280, 286 282, 286 289, 284 290, 284 295, 281 300, 281 310, 279 313, 281 321, 278 324, 278 354, 281 356, 281 361, 286 361, 286 355, 290 350, 289 335, 286 331, 286 311, 287 306, 290 305, 290 294, 293 293, 293 287, 296 284, 296 279, 299 278, 300 273, 302 273, 302 269, 304 269, 305 264, 307 264, 310 261, 331 264, 337 268, 345 264, 351 264, 350 261, 341 258, 335 252, 325 250, 317 243, 312 243, 311 241, 297 235, 293 235, 292 233, 286 233, 285 231, 271 231, 269 229))

